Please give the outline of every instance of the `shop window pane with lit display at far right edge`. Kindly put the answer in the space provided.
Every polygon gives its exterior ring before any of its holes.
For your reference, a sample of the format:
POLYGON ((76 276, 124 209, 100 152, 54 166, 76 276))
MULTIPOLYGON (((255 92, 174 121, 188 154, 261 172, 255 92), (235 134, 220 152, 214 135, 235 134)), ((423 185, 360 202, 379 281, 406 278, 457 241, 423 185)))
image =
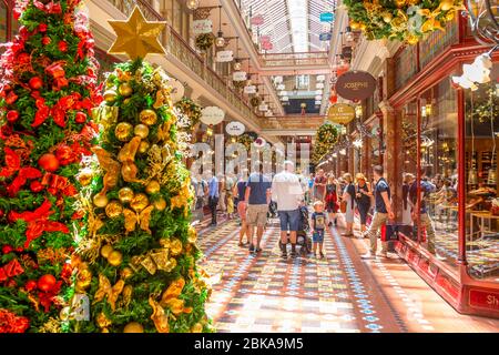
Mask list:
POLYGON ((466 256, 469 274, 499 281, 499 64, 492 81, 466 95, 466 256))

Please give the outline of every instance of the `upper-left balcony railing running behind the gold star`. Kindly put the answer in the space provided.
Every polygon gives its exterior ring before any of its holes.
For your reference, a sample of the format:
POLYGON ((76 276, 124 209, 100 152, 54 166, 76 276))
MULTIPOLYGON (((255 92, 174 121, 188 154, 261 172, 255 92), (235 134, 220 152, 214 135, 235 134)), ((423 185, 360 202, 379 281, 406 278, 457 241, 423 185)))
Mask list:
MULTIPOLYGON (((134 6, 144 13, 150 21, 165 21, 165 19, 145 0, 108 0, 125 16, 130 16, 134 6)), ((244 98, 230 88, 213 69, 206 65, 203 58, 169 24, 161 34, 161 42, 169 53, 184 63, 197 77, 202 78, 215 92, 218 92, 225 100, 235 108, 246 119, 257 122, 252 108, 244 101, 244 98)))

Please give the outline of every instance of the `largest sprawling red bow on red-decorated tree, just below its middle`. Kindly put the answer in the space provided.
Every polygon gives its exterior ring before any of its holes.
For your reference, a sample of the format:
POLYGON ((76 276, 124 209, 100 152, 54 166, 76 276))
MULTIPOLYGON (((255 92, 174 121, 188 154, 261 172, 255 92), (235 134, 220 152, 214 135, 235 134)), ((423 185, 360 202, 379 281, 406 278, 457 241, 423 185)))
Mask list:
POLYGON ((30 246, 31 241, 34 241, 35 239, 40 237, 43 232, 62 232, 62 233, 69 233, 68 226, 65 224, 55 222, 55 221, 49 221, 49 216, 51 216, 54 212, 50 211, 52 207, 52 203, 48 200, 45 200, 40 207, 34 210, 33 212, 27 211, 27 212, 14 212, 11 211, 9 213, 9 221, 16 222, 18 220, 23 220, 28 223, 28 227, 26 230, 26 237, 27 241, 24 243, 24 248, 28 248, 30 246))

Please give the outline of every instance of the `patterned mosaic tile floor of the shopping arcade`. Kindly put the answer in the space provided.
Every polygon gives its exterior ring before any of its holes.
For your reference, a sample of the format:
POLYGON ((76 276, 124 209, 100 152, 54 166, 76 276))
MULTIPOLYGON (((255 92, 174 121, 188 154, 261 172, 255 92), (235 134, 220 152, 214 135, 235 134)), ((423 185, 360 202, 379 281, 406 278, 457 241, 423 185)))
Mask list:
MULTIPOLYGON (((340 223, 342 224, 342 223, 340 223)), ((366 240, 325 239, 326 258, 279 256, 277 224, 259 255, 237 246, 236 221, 200 224, 213 276, 207 312, 218 332, 498 332, 499 321, 458 314, 396 255, 363 261, 366 240)))

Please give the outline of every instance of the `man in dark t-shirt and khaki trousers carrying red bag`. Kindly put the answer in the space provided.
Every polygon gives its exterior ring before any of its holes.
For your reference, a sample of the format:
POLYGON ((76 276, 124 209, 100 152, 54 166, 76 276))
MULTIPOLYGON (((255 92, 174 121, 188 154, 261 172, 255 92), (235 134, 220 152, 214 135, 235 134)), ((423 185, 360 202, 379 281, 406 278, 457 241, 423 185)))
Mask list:
MULTIPOLYGON (((363 258, 371 258, 376 256, 376 250, 378 247, 378 234, 380 233, 381 225, 386 223, 387 220, 394 220, 395 214, 391 211, 390 204, 390 187, 388 182, 383 178, 383 166, 375 165, 373 168, 373 175, 375 179, 375 213, 373 215, 373 222, 370 222, 369 229, 366 235, 369 236, 370 250, 366 254, 361 255, 363 258)), ((381 242, 381 252, 379 255, 387 257, 387 242, 381 242)))

